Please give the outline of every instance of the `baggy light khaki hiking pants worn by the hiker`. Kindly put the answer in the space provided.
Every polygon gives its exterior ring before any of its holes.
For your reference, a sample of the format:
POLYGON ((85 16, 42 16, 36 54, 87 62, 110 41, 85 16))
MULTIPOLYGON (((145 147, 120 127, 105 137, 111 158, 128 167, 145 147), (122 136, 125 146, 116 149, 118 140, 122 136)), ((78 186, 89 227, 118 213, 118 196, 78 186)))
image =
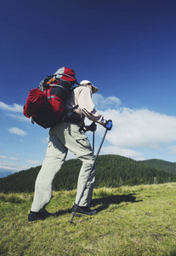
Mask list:
MULTIPOLYGON (((82 193, 83 186, 88 178, 88 172, 94 163, 94 154, 87 135, 83 131, 78 131, 79 126, 71 123, 61 123, 55 125, 49 131, 49 143, 43 166, 38 173, 35 183, 35 193, 31 211, 39 212, 48 205, 52 197, 52 182, 54 176, 60 171, 60 167, 64 163, 68 149, 82 160, 82 168, 77 181, 76 203, 82 193)), ((94 189, 94 173, 93 170, 89 177, 88 184, 79 206, 85 207, 90 204, 94 189)))

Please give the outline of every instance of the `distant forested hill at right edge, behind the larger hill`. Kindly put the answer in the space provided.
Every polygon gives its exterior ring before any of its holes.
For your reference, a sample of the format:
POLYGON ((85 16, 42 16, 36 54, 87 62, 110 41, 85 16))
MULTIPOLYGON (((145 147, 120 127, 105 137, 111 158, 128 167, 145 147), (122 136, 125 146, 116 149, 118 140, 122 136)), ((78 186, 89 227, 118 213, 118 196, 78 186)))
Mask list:
POLYGON ((176 163, 171 163, 165 160, 158 160, 158 159, 150 159, 150 160, 143 160, 141 163, 155 167, 165 172, 173 172, 176 173, 176 163))

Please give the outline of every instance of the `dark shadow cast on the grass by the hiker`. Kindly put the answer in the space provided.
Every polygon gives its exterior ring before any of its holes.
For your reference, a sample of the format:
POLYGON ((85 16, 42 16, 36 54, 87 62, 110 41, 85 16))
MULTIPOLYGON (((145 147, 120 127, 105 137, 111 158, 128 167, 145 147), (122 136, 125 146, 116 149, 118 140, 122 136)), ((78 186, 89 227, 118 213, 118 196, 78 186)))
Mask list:
MULTIPOLYGON (((119 205, 122 202, 136 203, 136 202, 142 201, 142 200, 136 201, 136 197, 134 195, 136 195, 136 194, 112 195, 112 196, 108 196, 108 197, 94 199, 91 202, 91 206, 96 207, 96 206, 100 205, 99 207, 97 207, 95 209, 97 210, 97 212, 101 212, 101 211, 107 209, 111 204, 119 205)), ((60 215, 66 214, 66 213, 71 213, 71 209, 66 209, 65 211, 62 210, 59 212, 55 212, 54 216, 58 217, 60 215)))

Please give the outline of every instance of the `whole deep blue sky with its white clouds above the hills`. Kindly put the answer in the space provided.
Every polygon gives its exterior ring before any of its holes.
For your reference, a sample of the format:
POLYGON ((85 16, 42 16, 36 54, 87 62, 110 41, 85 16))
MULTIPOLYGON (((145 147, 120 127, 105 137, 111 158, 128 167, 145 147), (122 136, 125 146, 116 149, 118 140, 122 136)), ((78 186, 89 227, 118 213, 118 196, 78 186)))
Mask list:
POLYGON ((114 124, 101 154, 176 161, 175 1, 6 0, 0 24, 0 170, 43 163, 48 130, 22 108, 63 66, 99 87, 95 108, 114 124))

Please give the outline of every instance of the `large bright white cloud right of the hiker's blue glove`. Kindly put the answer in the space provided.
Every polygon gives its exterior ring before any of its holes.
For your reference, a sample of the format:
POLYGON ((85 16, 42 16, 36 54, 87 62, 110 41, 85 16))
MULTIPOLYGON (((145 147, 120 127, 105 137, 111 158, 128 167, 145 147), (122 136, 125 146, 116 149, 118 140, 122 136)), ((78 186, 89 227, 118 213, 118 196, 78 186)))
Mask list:
POLYGON ((176 117, 148 109, 120 108, 103 112, 112 119, 107 140, 121 148, 160 148, 176 142, 176 117))

